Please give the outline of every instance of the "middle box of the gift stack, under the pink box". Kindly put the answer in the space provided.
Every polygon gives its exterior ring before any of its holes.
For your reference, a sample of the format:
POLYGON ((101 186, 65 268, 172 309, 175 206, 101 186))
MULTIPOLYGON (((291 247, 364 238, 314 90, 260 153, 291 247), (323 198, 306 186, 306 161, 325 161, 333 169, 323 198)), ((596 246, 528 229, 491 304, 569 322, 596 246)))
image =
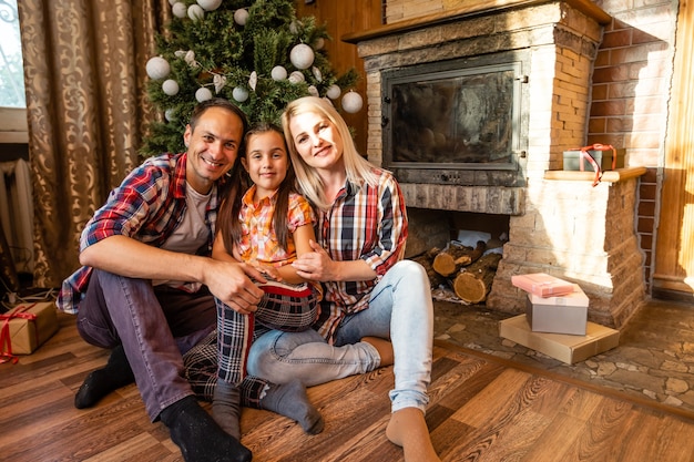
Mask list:
POLYGON ((588 296, 578 284, 573 291, 560 297, 528 294, 525 317, 533 332, 585 335, 588 296))

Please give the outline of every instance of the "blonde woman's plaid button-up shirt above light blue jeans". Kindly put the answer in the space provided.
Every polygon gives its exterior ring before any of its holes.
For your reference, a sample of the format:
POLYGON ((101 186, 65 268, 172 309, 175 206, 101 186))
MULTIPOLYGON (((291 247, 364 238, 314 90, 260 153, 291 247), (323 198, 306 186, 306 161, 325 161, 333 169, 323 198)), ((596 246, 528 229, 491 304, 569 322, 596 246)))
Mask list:
POLYGON ((368 308, 369 294, 405 256, 407 211, 400 186, 386 171, 375 170, 378 184, 346 184, 328 211, 318 212, 316 233, 330 258, 363 259, 377 274, 372 280, 324 283, 320 317, 314 328, 330 343, 340 320, 368 308))

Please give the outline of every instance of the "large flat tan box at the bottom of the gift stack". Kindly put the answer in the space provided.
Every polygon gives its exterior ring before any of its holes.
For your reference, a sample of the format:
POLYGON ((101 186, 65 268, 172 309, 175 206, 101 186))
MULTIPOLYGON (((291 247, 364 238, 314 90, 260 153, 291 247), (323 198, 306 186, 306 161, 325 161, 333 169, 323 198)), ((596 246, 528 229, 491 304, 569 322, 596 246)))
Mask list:
POLYGON ((499 335, 567 365, 584 361, 620 343, 620 331, 588 321, 584 336, 533 332, 525 315, 499 322, 499 335))

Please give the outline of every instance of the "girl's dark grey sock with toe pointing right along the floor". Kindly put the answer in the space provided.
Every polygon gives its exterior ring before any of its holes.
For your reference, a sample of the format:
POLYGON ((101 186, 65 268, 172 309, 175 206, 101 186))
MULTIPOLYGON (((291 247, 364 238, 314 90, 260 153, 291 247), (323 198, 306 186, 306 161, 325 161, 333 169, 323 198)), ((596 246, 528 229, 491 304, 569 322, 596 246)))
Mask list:
POLYGON ((269 384, 261 398, 261 408, 296 420, 308 434, 318 434, 325 422, 320 412, 308 401, 306 387, 299 380, 269 384))

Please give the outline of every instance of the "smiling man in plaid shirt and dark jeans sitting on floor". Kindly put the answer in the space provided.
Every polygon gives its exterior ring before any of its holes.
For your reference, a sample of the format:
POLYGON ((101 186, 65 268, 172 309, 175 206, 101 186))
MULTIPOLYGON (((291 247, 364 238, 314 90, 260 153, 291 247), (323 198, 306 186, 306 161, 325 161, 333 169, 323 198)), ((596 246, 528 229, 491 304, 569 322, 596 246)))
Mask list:
MULTIPOLYGON (((58 298, 60 309, 78 315, 88 342, 113 349, 105 368, 80 387, 75 407, 94 405, 134 380, 150 418, 161 419, 188 462, 252 458, 200 407, 182 359, 216 326, 213 295, 251 311, 263 296, 249 279, 265 281, 257 270, 210 258, 218 189, 246 129, 244 113, 231 102, 198 104, 184 133, 187 151, 144 162, 89 220, 80 243, 84 266, 58 298)), ((265 388, 263 409, 274 410, 268 402, 277 388, 265 388)))

